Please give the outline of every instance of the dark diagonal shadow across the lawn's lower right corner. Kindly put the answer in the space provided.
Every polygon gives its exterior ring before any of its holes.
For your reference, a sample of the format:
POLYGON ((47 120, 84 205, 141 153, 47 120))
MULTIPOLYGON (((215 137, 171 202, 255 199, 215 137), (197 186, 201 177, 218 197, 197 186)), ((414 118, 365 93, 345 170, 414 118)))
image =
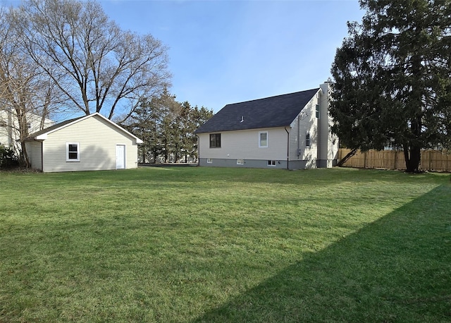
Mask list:
POLYGON ((450 321, 445 184, 193 322, 450 321))

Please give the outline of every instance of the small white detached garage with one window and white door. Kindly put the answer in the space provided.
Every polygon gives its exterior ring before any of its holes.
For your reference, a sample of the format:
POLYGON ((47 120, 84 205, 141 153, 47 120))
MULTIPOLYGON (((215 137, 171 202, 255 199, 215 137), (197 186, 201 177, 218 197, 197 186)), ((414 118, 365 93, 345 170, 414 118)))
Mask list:
POLYGON ((99 113, 33 133, 25 140, 32 168, 44 172, 137 168, 142 140, 99 113))

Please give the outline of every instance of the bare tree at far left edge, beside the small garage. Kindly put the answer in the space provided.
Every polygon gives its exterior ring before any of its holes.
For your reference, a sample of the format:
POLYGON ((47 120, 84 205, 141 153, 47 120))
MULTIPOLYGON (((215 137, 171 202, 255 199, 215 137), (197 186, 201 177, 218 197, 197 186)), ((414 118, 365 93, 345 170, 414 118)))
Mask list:
POLYGON ((6 111, 10 145, 29 166, 23 140, 29 135, 30 118, 43 128, 44 120, 58 106, 58 94, 47 75, 23 52, 20 34, 11 24, 13 10, 0 8, 0 109, 6 111))

